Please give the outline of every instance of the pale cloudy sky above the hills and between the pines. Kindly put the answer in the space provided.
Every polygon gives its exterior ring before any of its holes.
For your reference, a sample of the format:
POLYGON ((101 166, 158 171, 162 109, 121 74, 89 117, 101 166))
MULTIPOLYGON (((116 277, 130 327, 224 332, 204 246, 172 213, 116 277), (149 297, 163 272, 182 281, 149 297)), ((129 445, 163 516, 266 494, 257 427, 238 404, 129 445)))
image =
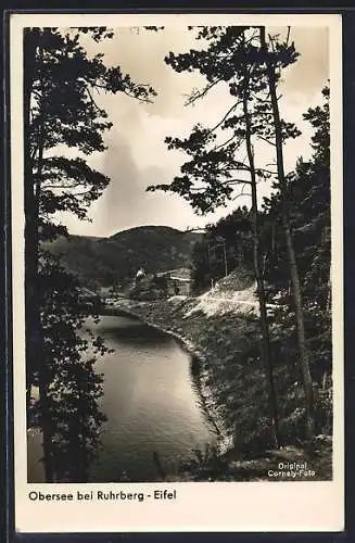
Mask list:
MULTIPOLYGON (((270 28, 286 33, 286 28, 270 28)), ((308 123, 302 119, 309 106, 320 104, 321 89, 329 78, 328 29, 326 27, 291 27, 291 40, 300 53, 297 62, 282 75, 280 92, 281 115, 301 129, 302 136, 291 140, 284 149, 286 171, 293 169, 297 157, 310 156, 308 123)), ((147 192, 149 185, 170 182, 179 175, 179 167, 187 155, 168 151, 166 136, 188 136, 196 123, 213 126, 228 108, 226 87, 199 101, 194 106, 185 105, 193 88, 201 88, 204 79, 198 73, 176 73, 166 65, 164 58, 196 49, 193 34, 186 27, 165 27, 159 33, 142 28, 115 28, 112 40, 99 46, 86 40, 89 54, 104 53, 107 65, 119 65, 135 83, 150 84, 157 92, 154 102, 142 104, 124 94, 96 97, 103 106, 112 129, 105 135, 107 149, 89 157, 89 163, 111 178, 109 187, 89 212, 91 223, 80 222, 63 214, 59 220, 71 233, 109 237, 117 231, 144 225, 164 225, 178 229, 203 227, 227 215, 237 205, 250 205, 243 197, 227 207, 204 217, 196 216, 191 206, 179 195, 147 192)), ((259 144, 255 148, 256 165, 271 163, 274 149, 259 144)), ((259 185, 259 202, 270 191, 269 184, 259 185)))

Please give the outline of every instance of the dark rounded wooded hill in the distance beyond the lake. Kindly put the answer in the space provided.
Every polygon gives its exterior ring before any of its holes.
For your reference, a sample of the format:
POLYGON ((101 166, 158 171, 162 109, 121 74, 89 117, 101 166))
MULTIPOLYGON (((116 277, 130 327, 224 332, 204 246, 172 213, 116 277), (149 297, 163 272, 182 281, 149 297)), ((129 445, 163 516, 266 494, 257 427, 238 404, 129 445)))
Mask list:
POLYGON ((147 273, 189 267, 200 233, 167 226, 141 226, 110 238, 69 236, 47 245, 62 264, 91 288, 126 285, 143 267, 147 273))

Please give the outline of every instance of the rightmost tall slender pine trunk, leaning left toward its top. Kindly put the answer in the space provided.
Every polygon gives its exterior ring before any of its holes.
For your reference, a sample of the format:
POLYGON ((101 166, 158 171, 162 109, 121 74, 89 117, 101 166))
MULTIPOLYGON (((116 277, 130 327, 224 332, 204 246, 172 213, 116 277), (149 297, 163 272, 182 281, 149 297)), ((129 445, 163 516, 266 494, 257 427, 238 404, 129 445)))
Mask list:
MULTIPOLYGON (((275 123, 275 146, 276 146, 276 156, 277 156, 277 172, 278 179, 280 184, 281 197, 286 191, 286 175, 283 167, 283 149, 282 149, 282 127, 280 121, 279 104, 276 91, 276 73, 275 66, 267 54, 267 45, 265 39, 265 27, 261 27, 261 46, 265 51, 266 68, 267 68, 267 79, 269 87, 269 94, 271 100, 274 123, 275 123)), ((303 388, 305 393, 305 408, 306 408, 306 437, 312 440, 315 431, 315 413, 314 413, 314 390, 313 380, 309 369, 308 354, 306 350, 306 338, 305 338, 305 327, 304 327, 304 316, 303 316, 303 304, 302 304, 302 293, 301 283, 299 277, 297 263, 295 257, 295 252, 293 248, 293 240, 290 226, 290 215, 288 209, 288 202, 286 198, 282 199, 282 224, 286 235, 287 253, 290 265, 290 276, 292 283, 292 293, 294 300, 296 328, 297 328, 297 346, 300 354, 300 367, 303 378, 303 388)))

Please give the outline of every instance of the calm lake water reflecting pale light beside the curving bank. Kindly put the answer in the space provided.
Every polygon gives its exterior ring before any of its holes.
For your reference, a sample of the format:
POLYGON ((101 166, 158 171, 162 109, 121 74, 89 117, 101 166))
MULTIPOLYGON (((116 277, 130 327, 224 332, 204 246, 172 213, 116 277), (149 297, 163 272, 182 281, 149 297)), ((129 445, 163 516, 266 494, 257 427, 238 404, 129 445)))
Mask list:
MULTIPOLYGON (((102 429, 92 482, 110 482, 126 472, 132 481, 153 481, 159 455, 167 473, 176 472, 194 447, 215 440, 200 405, 192 359, 169 336, 127 317, 103 316, 90 325, 114 349, 97 363, 104 375, 102 429)), ((29 440, 28 478, 39 482, 40 437, 29 440)))

